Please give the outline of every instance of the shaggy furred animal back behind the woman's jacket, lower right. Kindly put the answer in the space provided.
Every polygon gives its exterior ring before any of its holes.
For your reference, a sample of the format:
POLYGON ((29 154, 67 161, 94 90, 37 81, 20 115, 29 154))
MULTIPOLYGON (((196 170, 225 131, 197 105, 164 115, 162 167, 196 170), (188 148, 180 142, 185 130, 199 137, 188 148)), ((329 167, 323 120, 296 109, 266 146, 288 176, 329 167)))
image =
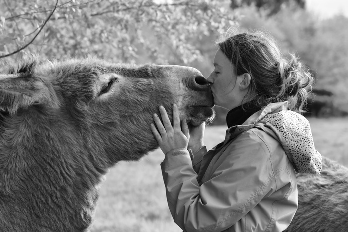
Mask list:
POLYGON ((348 231, 348 168, 323 158, 320 175, 298 174, 298 210, 285 232, 348 231))

